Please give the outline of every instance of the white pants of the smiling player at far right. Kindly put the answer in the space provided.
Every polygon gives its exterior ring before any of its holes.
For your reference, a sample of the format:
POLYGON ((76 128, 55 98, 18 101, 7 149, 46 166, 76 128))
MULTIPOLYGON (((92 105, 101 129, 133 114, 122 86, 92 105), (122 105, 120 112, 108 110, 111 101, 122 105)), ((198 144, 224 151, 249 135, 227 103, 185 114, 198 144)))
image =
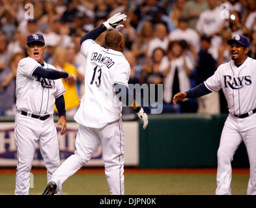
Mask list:
POLYGON ((231 161, 239 144, 244 141, 249 157, 250 177, 247 194, 256 195, 256 114, 236 118, 229 114, 221 133, 218 149, 216 194, 231 194, 231 161))

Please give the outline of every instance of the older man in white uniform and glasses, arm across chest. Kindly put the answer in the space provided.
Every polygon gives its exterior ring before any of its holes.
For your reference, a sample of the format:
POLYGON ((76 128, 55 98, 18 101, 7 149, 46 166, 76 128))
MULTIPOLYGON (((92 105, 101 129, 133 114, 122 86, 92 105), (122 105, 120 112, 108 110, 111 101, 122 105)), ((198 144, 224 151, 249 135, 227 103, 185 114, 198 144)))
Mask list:
MULTIPOLYGON (((29 57, 21 59, 16 76, 15 138, 18 157, 15 194, 29 194, 29 174, 35 154, 36 140, 47 168, 48 181, 59 167, 57 131, 53 122, 54 104, 59 112, 57 127, 66 131, 64 97, 60 78, 75 82, 74 75, 57 71, 43 61, 46 51, 42 34, 27 36, 29 57)), ((61 194, 61 193, 60 193, 61 194)))

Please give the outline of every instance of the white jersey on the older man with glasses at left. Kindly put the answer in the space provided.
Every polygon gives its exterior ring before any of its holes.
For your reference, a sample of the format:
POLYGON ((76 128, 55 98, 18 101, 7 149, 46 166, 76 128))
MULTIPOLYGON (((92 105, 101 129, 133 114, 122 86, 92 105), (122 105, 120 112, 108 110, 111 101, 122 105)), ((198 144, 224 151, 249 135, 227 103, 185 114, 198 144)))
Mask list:
MULTIPOLYGON (((66 90, 61 79, 50 80, 33 76, 38 66, 41 64, 30 57, 20 60, 16 76, 16 109, 40 116, 53 114, 55 99, 66 90)), ((43 67, 56 70, 46 62, 43 67)))

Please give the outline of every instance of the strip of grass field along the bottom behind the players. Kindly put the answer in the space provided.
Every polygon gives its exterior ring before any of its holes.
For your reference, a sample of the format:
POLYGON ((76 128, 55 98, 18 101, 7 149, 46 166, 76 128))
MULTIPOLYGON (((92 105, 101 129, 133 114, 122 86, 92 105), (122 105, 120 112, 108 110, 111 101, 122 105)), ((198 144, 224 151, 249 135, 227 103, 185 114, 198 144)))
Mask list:
MULTIPOLYGON (((246 194, 249 175, 233 175, 231 188, 235 195, 246 194)), ((0 194, 14 194, 15 174, 0 174, 0 194)), ((215 174, 124 174, 125 194, 128 195, 213 195, 215 174)), ((46 174, 34 174, 30 194, 42 194, 46 174)), ((109 194, 104 174, 75 174, 63 185, 63 194, 109 194)))

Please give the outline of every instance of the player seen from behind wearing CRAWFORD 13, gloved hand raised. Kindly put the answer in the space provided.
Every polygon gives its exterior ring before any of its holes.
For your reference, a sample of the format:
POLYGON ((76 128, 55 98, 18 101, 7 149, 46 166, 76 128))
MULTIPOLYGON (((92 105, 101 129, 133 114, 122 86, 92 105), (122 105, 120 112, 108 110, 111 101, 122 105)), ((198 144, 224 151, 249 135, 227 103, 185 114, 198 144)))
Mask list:
MULTIPOLYGON (((70 175, 87 164, 100 144, 102 144, 105 174, 110 194, 124 194, 122 102, 117 98, 117 94, 121 90, 121 94, 129 97, 130 65, 122 55, 123 36, 114 29, 124 20, 126 20, 125 14, 115 14, 100 27, 81 38, 81 54, 87 59, 87 62, 85 94, 81 98, 80 107, 74 116, 74 120, 79 123, 76 151, 55 170, 43 195, 51 195, 59 190, 70 175), (104 48, 96 44, 94 40, 107 29, 111 30, 106 33, 106 48, 104 48)), ((121 26, 119 25, 119 27, 121 26)), ((133 98, 132 102, 134 102, 133 98)), ((145 129, 148 124, 147 114, 141 107, 132 107, 132 109, 143 120, 145 129)))

